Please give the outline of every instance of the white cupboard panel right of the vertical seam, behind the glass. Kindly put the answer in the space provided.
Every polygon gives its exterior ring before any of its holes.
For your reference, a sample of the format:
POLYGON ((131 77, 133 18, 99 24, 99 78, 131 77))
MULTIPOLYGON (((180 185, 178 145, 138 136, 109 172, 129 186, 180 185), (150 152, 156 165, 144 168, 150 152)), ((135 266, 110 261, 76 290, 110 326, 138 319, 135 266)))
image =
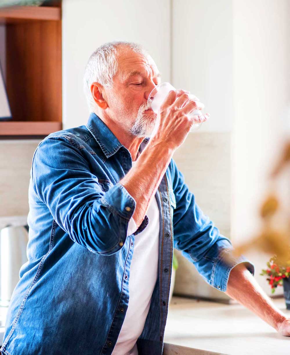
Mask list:
POLYGON ((199 132, 232 129, 232 1, 173 0, 172 82, 205 104, 199 132))

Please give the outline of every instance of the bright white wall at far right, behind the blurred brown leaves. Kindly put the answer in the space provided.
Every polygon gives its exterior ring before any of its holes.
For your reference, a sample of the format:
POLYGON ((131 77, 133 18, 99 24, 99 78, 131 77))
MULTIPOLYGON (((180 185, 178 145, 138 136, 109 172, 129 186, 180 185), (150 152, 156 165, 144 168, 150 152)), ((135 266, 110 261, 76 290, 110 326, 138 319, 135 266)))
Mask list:
MULTIPOLYGON (((290 1, 233 1, 232 240, 259 231, 268 173, 290 120, 290 1)), ((288 182, 289 184, 289 182, 288 182)), ((289 205, 288 205, 289 206, 289 205)), ((268 256, 251 253, 256 278, 268 256)), ((281 290, 280 290, 281 293, 281 290)))

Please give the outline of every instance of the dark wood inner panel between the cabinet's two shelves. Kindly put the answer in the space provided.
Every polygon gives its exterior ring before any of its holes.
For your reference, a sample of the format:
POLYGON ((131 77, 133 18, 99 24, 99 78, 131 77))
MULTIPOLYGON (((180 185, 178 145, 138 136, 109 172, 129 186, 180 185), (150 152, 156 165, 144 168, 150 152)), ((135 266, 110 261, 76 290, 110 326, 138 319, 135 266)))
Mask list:
POLYGON ((6 25, 6 85, 17 121, 61 122, 61 22, 6 25))

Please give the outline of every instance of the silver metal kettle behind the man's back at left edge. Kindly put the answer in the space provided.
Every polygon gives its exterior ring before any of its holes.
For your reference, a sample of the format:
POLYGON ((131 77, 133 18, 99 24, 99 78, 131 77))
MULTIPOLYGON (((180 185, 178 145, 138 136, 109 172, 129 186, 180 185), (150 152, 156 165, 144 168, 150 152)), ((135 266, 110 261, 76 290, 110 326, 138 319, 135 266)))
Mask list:
POLYGON ((0 306, 9 305, 19 281, 21 266, 27 262, 28 225, 6 226, 0 231, 0 306))

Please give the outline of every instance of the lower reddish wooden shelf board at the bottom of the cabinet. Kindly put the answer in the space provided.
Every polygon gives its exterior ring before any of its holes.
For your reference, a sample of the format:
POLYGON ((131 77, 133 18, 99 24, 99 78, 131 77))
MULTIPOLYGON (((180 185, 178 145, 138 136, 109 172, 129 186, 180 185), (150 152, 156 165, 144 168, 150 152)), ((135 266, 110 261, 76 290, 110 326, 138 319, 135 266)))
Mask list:
POLYGON ((3 136, 47 136, 60 131, 61 122, 4 121, 0 122, 0 137, 3 136))

